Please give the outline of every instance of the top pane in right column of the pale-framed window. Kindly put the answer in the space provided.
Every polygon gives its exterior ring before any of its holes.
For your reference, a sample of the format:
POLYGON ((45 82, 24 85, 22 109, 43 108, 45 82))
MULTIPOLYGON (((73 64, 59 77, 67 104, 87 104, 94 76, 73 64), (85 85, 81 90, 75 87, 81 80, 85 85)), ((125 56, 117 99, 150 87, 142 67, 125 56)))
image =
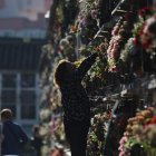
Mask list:
POLYGON ((35 74, 22 74, 20 85, 22 88, 35 87, 36 86, 36 75, 35 74))

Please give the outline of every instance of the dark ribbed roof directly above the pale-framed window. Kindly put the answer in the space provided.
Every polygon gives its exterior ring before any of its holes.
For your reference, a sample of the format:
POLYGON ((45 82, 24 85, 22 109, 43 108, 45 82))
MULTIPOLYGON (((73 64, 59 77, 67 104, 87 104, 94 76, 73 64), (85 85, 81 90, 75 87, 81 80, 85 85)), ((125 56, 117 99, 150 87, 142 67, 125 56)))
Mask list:
POLYGON ((0 38, 0 70, 37 71, 42 39, 0 38))

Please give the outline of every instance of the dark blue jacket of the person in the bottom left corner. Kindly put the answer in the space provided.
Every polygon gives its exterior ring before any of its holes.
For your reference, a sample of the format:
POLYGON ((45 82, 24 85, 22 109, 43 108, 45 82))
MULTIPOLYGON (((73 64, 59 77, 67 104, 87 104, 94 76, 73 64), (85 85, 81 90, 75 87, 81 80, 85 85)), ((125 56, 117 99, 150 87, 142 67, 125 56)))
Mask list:
POLYGON ((11 120, 7 120, 3 123, 2 134, 4 139, 1 145, 1 154, 19 155, 21 146, 28 142, 28 136, 23 129, 11 120))

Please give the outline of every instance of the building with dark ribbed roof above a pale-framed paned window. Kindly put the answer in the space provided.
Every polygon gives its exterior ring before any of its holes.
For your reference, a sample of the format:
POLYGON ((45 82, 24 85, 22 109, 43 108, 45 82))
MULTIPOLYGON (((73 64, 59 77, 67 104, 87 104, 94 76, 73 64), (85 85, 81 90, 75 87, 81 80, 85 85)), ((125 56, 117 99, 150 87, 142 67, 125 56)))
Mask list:
POLYGON ((0 39, 0 107, 31 134, 39 121, 39 61, 43 40, 0 39))

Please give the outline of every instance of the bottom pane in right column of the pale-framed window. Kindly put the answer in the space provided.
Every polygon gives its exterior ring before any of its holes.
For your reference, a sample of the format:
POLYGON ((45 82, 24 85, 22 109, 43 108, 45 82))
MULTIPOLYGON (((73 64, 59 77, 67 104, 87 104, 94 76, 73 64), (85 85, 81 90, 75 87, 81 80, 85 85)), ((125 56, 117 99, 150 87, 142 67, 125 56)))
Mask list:
POLYGON ((21 118, 22 119, 36 119, 36 106, 35 105, 22 105, 21 106, 21 118))

